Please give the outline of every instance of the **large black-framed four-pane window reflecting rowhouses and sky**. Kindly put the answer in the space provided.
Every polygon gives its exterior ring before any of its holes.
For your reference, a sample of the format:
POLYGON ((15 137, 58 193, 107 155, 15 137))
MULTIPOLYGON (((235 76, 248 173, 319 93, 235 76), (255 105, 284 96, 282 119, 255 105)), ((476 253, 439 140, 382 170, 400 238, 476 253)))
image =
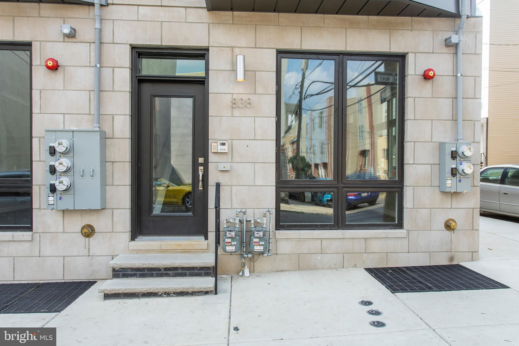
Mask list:
POLYGON ((278 228, 402 227, 403 61, 278 54, 278 228))

